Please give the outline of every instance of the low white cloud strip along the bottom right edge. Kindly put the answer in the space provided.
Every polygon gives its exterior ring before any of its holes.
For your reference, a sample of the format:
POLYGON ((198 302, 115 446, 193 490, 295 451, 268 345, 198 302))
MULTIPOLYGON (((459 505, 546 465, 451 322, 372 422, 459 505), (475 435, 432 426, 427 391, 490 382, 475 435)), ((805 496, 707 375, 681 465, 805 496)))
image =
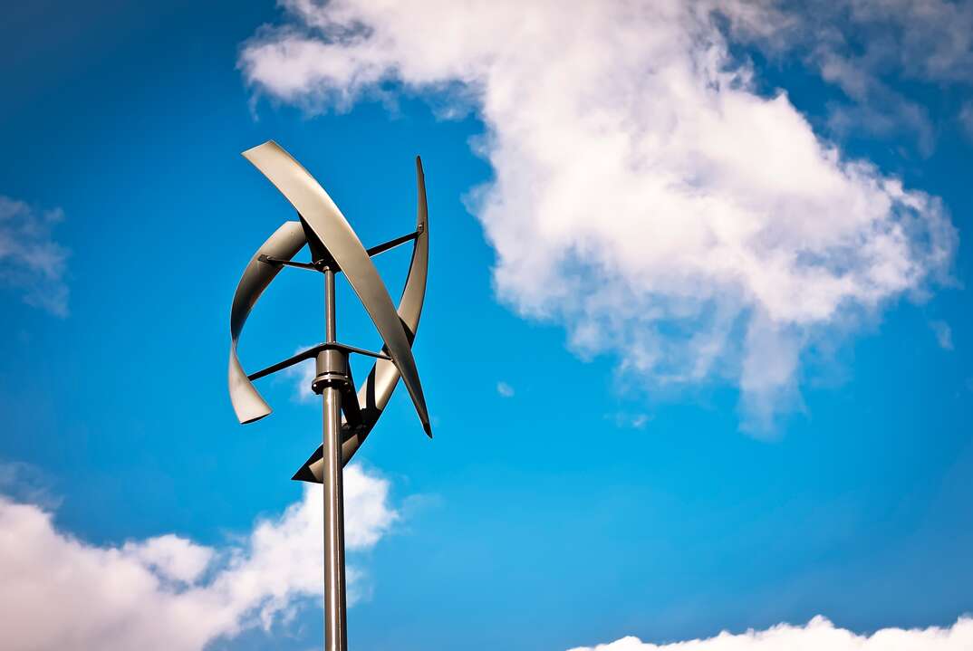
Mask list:
POLYGON ((883 629, 871 635, 857 635, 835 628, 823 617, 815 617, 803 627, 781 624, 767 631, 720 633, 708 639, 665 644, 623 637, 610 644, 571 651, 965 651, 970 648, 973 648, 973 619, 960 619, 947 629, 883 629))

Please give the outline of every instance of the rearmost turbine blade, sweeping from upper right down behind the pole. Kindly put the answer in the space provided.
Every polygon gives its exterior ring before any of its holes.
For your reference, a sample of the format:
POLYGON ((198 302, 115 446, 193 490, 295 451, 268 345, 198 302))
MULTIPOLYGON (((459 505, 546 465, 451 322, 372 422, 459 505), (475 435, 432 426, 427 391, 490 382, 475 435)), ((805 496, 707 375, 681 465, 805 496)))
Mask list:
MULTIPOLYGON (((429 271, 429 210, 426 205, 425 176, 422 173, 422 162, 415 158, 415 176, 418 191, 418 207, 415 220, 415 237, 413 259, 409 265, 409 275, 406 286, 399 301, 398 314, 402 325, 406 328, 409 341, 415 337, 415 330, 419 325, 422 313, 422 302, 425 298, 426 274, 429 271)), ((362 412, 362 426, 356 430, 349 430, 349 436, 342 443, 342 461, 347 463, 365 438, 375 427, 378 416, 385 409, 396 383, 399 381, 399 371, 392 362, 379 359, 372 372, 365 380, 365 384, 358 391, 358 404, 362 412)), ((305 464, 294 475, 294 479, 305 482, 321 482, 324 472, 321 446, 310 455, 305 464)))

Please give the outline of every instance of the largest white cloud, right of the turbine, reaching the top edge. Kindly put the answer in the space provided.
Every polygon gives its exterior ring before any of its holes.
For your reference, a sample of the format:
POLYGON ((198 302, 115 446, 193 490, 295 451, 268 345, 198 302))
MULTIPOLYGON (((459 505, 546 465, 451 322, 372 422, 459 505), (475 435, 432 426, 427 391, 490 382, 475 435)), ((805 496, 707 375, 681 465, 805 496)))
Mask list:
POLYGON ((499 297, 617 354, 631 384, 733 381, 768 431, 800 402, 802 358, 942 277, 956 235, 938 199, 756 90, 727 34, 789 17, 720 5, 287 0, 239 63, 310 111, 395 88, 475 106, 499 297))

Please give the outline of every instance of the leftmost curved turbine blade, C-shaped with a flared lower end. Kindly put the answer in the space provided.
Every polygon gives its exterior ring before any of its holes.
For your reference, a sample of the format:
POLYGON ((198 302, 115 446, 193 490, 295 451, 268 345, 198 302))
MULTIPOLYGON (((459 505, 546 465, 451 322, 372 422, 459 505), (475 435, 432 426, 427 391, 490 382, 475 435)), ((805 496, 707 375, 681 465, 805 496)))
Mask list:
POLYGON ((307 243, 301 222, 284 222, 273 235, 267 238, 250 259, 239 284, 236 285, 234 305, 230 310, 230 401, 234 405, 236 418, 240 423, 253 422, 270 414, 270 406, 264 401, 253 383, 247 379, 243 367, 236 356, 236 343, 240 331, 246 323, 250 310, 256 305, 270 281, 280 271, 280 267, 262 263, 258 258, 268 255, 271 258, 290 260, 307 243))

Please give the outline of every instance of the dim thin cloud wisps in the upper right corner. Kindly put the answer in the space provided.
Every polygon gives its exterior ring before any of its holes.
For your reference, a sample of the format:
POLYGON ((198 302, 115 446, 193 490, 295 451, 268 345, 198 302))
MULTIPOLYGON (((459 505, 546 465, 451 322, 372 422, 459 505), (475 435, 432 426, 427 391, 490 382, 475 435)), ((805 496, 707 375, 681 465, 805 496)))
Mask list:
POLYGON ((929 155, 936 125, 928 94, 907 96, 901 81, 968 88, 973 83, 973 2, 969 0, 758 0, 737 10, 739 35, 771 54, 798 54, 847 100, 830 107, 838 133, 900 136, 911 131, 929 155), (786 10, 782 9, 786 7, 786 10))

